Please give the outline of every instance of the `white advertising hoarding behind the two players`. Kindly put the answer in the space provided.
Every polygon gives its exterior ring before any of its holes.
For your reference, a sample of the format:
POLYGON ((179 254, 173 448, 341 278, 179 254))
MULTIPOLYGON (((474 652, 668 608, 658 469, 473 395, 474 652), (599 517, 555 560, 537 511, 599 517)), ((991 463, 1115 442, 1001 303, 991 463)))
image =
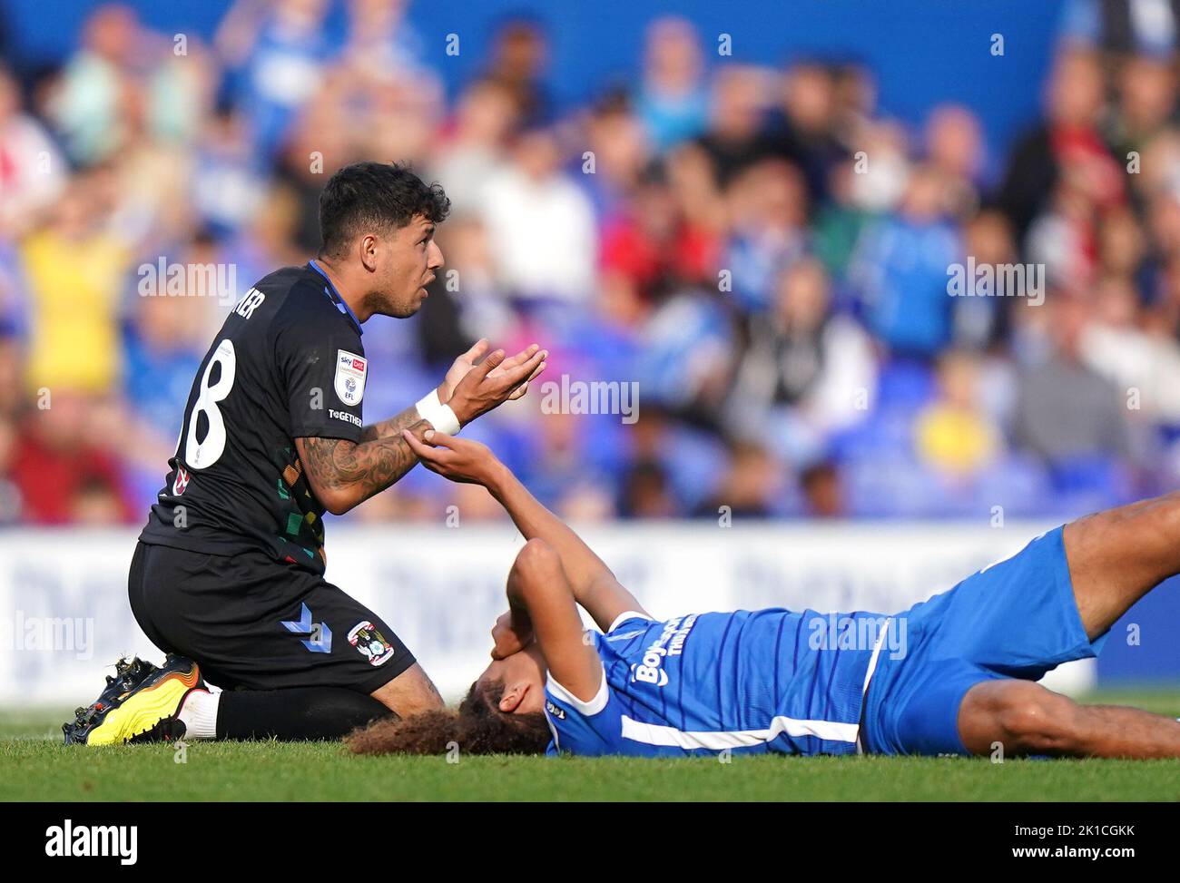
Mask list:
MULTIPOLYGON (((1044 524, 612 524, 583 536, 657 617, 787 607, 894 613, 1018 551, 1044 524)), ((487 662, 489 629, 523 538, 511 526, 329 525, 328 578, 368 604, 448 698, 487 662)), ((0 535, 0 705, 93 700, 122 654, 159 661, 126 574, 136 531, 0 535)), ((1094 661, 1050 686, 1080 692, 1094 661)))

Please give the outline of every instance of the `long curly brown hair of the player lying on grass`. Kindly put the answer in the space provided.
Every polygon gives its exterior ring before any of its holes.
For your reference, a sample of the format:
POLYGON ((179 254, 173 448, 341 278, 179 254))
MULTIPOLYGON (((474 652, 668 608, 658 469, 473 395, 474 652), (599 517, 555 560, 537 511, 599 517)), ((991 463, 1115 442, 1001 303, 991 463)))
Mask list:
POLYGON ((345 741, 354 754, 445 754, 451 743, 467 754, 543 754, 549 746, 544 713, 502 712, 503 695, 503 681, 476 681, 458 712, 376 720, 345 741))

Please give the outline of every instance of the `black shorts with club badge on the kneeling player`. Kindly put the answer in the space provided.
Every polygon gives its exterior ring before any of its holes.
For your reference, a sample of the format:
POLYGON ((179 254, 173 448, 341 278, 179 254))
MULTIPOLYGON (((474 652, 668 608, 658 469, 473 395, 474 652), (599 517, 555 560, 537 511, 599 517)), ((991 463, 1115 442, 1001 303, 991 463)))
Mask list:
POLYGON ((372 693, 414 662, 362 603, 261 551, 206 555, 139 543, 127 594, 151 642, 196 660, 222 689, 372 693))

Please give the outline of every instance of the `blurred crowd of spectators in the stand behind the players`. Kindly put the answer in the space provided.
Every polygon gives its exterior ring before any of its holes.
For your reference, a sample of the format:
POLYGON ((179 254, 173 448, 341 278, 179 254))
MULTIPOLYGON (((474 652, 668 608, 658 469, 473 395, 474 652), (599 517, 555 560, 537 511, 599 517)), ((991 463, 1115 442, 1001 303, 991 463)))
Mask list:
MULTIPOLYGON (((315 255, 358 159, 453 202, 421 313, 366 328, 369 420, 480 336, 637 385, 634 423, 535 386, 467 430, 564 516, 1073 515, 1180 477, 1176 21, 1070 2, 1040 122, 989 156, 968 107, 905 125, 872 70, 717 58, 675 17, 584 106, 527 18, 448 96, 442 35, 337 2, 337 37, 329 0, 238 0, 209 42, 106 5, 59 67, 0 64, 0 518, 145 518, 224 315, 315 255), (952 296, 969 259, 1041 296, 952 296), (144 269, 176 264, 223 272, 144 269)), ((350 517, 452 504, 498 512, 418 469, 350 517)))

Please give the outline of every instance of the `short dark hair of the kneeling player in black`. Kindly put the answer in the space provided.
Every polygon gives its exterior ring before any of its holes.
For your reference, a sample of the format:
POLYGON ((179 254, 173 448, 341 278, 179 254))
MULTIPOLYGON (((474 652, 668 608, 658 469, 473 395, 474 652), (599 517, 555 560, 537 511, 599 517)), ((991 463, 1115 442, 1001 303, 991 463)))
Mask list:
POLYGON ((415 215, 440 224, 451 201, 402 163, 353 163, 328 178, 320 194, 321 257, 339 257, 362 228, 393 230, 415 215))

